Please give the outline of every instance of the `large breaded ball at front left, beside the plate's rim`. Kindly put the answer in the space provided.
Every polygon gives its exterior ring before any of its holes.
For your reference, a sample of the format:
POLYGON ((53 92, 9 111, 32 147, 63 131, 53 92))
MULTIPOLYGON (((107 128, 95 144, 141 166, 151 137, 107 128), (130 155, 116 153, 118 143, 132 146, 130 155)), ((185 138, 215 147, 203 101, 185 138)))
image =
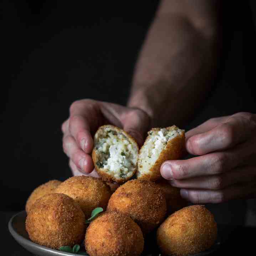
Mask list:
POLYGON ((64 194, 47 194, 36 200, 27 218, 30 239, 53 249, 80 244, 85 235, 85 215, 80 206, 64 194))

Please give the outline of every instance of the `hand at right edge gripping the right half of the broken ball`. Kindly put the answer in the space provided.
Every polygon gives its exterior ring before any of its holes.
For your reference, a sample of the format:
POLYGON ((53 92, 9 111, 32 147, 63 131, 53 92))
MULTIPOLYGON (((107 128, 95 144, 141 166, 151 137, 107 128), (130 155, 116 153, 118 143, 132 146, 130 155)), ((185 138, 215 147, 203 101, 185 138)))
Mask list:
POLYGON ((256 197, 256 115, 211 118, 186 133, 186 150, 199 155, 166 161, 161 174, 192 203, 256 197))

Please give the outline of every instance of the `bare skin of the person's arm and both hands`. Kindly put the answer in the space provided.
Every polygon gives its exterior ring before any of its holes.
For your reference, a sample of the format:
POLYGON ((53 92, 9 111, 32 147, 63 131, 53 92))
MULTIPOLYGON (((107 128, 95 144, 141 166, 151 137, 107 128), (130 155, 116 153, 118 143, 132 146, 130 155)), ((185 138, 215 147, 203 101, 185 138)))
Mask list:
MULTIPOLYGON (((123 128, 141 146, 150 128, 182 128, 193 117, 210 90, 220 52, 218 4, 161 2, 135 66, 127 107, 91 99, 72 103, 62 131, 74 175, 97 176, 90 154, 103 124, 123 128)), ((186 150, 199 157, 167 161, 161 174, 197 204, 254 197, 254 166, 246 160, 255 154, 254 130, 251 113, 210 119, 186 133, 186 150)))

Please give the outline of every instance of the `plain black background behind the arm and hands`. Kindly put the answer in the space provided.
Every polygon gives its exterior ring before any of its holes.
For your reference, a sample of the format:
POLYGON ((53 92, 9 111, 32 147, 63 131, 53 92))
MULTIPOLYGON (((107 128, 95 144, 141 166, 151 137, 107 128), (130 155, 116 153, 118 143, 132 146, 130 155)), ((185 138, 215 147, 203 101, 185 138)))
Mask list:
MULTIPOLYGON (((255 2, 223 9, 218 80, 186 129, 213 116, 256 112, 255 2)), ((238 3, 239 2, 239 3, 238 3)), ((0 210, 23 210, 31 191, 71 176, 61 124, 82 98, 125 104, 158 1, 8 1, 0 210)))

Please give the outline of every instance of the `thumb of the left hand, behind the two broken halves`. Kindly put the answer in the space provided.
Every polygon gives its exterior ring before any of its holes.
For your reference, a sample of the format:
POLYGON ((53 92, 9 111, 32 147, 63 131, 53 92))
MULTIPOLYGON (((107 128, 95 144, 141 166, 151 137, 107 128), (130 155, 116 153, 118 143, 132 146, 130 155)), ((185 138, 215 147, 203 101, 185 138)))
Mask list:
POLYGON ((126 114, 123 121, 123 129, 130 134, 141 147, 144 143, 144 138, 148 132, 150 118, 147 113, 141 109, 132 109, 126 114))

